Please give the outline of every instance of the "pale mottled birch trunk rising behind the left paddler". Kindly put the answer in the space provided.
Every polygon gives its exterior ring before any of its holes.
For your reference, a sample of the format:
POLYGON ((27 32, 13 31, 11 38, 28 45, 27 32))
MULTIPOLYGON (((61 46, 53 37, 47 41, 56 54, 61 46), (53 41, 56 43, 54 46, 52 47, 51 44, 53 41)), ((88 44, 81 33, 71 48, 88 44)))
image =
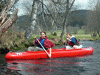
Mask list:
POLYGON ((27 40, 29 41, 32 37, 33 30, 35 29, 35 26, 37 24, 37 9, 38 9, 38 3, 37 0, 33 0, 32 4, 32 12, 31 12, 31 25, 26 30, 25 36, 27 40))

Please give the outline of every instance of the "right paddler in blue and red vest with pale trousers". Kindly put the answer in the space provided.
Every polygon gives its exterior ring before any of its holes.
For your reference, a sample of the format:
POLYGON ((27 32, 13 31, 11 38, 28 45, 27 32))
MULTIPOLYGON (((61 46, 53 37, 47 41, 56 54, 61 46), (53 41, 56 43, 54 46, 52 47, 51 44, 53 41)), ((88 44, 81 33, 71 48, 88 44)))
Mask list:
POLYGON ((66 49, 71 49, 71 48, 77 49, 83 47, 75 38, 75 36, 72 36, 70 33, 67 34, 67 44, 68 46, 66 46, 66 49))

